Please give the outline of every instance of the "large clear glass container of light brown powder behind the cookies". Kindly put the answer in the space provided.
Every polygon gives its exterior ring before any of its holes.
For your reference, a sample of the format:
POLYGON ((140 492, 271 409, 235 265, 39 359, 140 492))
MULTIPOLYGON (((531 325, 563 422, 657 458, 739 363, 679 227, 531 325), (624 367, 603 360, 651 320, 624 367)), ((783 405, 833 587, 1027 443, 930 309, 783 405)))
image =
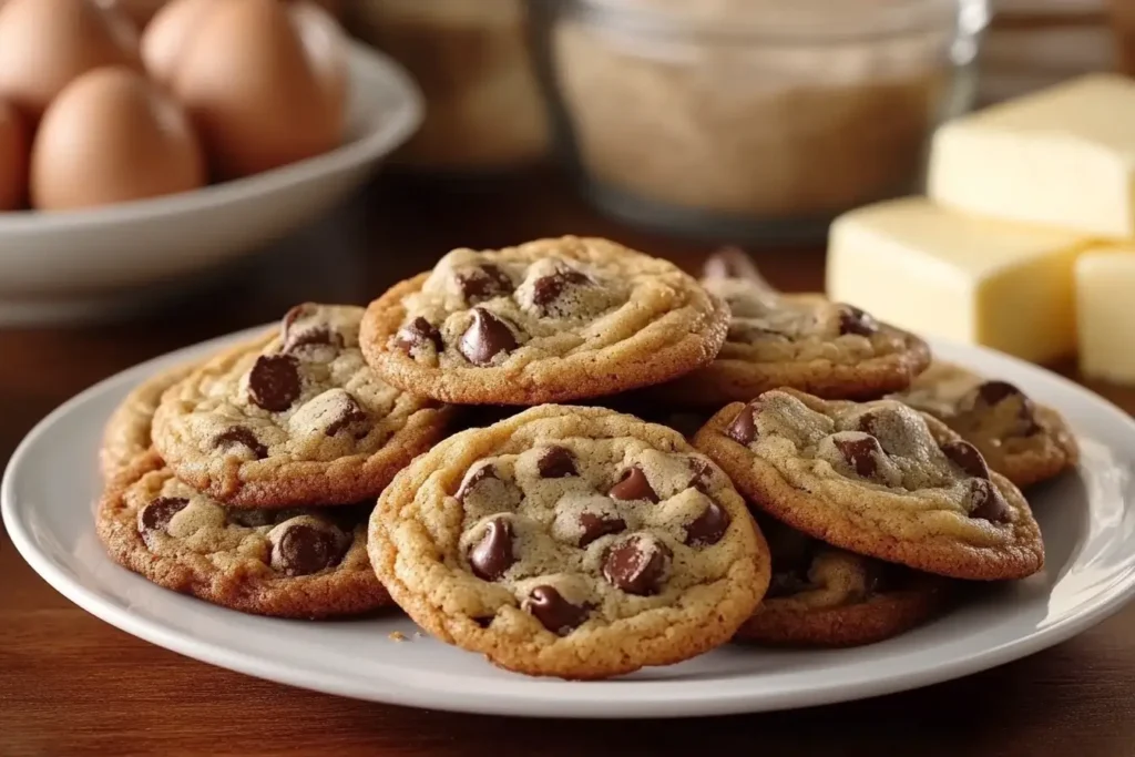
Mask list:
POLYGON ((561 150, 606 211, 759 243, 909 193, 985 0, 537 0, 561 150))

